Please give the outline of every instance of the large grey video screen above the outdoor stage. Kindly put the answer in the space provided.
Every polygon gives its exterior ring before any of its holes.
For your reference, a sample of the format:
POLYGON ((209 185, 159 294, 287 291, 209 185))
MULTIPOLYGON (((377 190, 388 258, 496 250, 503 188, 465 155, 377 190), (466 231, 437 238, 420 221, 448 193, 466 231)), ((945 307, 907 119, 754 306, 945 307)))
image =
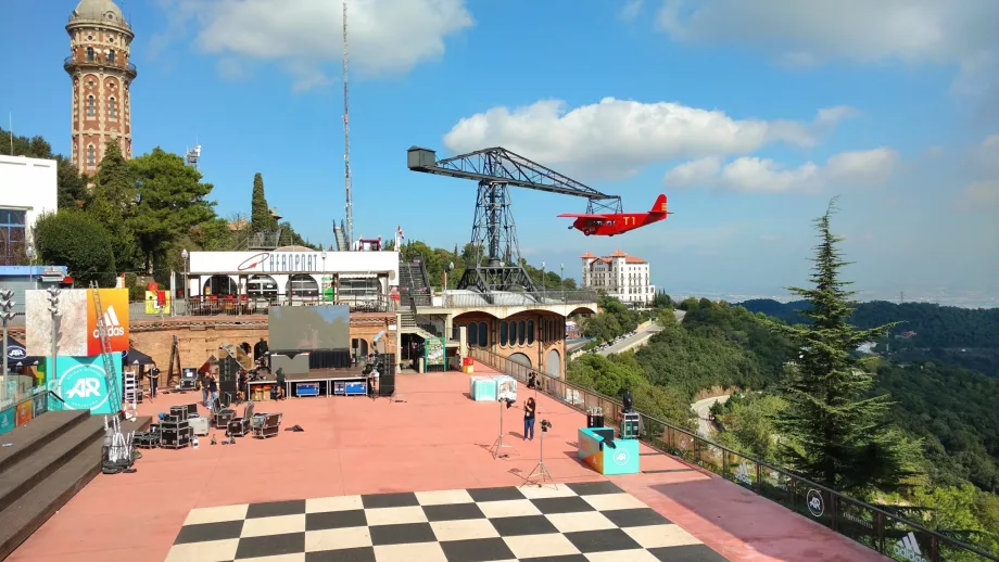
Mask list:
POLYGON ((350 349, 351 309, 345 305, 271 306, 267 335, 271 352, 350 349))

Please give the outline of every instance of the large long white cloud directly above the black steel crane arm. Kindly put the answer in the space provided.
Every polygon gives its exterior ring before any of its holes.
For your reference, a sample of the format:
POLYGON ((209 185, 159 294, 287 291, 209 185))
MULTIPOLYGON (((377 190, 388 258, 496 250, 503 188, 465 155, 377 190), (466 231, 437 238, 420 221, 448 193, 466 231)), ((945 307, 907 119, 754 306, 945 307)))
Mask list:
POLYGON ((768 122, 667 102, 605 98, 568 108, 562 101, 548 100, 466 117, 444 136, 444 144, 454 153, 498 145, 567 174, 627 177, 680 157, 751 154, 776 142, 813 146, 855 113, 831 107, 812 123, 768 122))

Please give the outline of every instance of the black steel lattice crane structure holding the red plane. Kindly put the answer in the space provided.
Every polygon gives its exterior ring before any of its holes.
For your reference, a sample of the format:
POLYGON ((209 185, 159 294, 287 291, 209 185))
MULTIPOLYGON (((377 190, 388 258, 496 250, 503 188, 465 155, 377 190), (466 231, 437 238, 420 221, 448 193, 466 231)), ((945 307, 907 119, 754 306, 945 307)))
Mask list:
POLYGON ((473 264, 467 264, 458 289, 481 293, 523 291, 538 293, 521 266, 517 225, 510 209, 508 188, 526 188, 587 200, 586 212, 621 213, 621 197, 602 193, 551 168, 495 146, 438 161, 430 149, 408 150, 410 170, 478 181, 471 244, 473 264), (484 254, 484 255, 482 255, 484 254))

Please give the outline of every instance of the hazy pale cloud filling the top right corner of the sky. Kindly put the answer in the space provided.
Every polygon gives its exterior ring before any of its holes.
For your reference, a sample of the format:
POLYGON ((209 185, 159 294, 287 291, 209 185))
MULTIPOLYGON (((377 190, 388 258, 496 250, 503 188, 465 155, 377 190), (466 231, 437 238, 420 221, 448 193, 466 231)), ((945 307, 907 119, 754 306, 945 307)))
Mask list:
POLYGON ((675 41, 756 47, 784 64, 940 64, 959 69, 954 91, 999 88, 995 0, 666 0, 658 22, 675 41))

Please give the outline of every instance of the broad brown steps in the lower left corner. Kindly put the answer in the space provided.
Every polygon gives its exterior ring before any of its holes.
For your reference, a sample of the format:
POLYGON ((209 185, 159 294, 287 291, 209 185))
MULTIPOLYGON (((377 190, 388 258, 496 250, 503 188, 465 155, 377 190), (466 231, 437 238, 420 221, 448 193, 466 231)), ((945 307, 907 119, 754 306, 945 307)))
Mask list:
MULTIPOLYGON (((141 431, 149 418, 123 421, 141 431)), ((89 411, 47 412, 0 436, 0 560, 101 471, 104 418, 89 411)))

